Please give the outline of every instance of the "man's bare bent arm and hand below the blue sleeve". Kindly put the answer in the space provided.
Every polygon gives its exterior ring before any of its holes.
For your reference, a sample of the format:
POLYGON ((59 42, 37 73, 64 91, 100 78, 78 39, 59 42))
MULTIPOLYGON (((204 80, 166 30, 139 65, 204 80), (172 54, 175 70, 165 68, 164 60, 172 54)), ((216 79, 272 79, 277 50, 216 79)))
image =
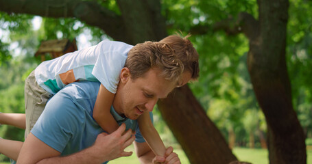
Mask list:
POLYGON ((125 124, 122 124, 111 135, 101 133, 93 146, 69 156, 60 156, 60 152, 30 133, 21 148, 17 163, 104 163, 121 156, 130 156, 132 152, 123 150, 134 141, 134 135, 131 136, 131 130, 123 134, 124 131, 125 124))

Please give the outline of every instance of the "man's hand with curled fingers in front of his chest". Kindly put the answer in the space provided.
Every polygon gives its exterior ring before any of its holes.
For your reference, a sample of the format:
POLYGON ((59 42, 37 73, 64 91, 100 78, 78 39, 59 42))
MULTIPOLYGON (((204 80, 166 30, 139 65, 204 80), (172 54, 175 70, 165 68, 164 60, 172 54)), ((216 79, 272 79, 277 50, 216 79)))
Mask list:
POLYGON ((121 156, 130 156, 132 154, 132 152, 125 152, 124 150, 131 145, 135 137, 132 135, 130 129, 125 133, 124 131, 125 124, 121 124, 121 126, 110 135, 107 133, 97 135, 93 148, 95 152, 99 153, 96 157, 100 157, 100 161, 110 161, 121 156))

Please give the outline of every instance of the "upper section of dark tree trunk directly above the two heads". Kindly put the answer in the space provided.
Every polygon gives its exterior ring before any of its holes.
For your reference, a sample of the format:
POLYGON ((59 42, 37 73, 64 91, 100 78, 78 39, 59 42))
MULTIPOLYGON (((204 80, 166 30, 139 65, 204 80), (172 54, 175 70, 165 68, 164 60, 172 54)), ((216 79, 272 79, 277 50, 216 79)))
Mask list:
POLYGON ((157 41, 167 36, 159 0, 118 0, 117 4, 127 25, 130 44, 157 41))

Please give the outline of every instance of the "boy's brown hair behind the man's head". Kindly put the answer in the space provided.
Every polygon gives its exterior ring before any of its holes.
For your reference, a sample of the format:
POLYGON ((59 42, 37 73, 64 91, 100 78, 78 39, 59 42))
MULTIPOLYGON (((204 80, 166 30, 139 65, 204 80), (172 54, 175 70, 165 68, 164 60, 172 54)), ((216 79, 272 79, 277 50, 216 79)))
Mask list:
POLYGON ((159 42, 169 44, 173 49, 180 61, 184 66, 185 71, 191 72, 191 79, 195 80, 199 77, 200 68, 198 66, 198 53, 193 47, 189 38, 191 35, 187 35, 184 38, 178 35, 167 36, 159 42))

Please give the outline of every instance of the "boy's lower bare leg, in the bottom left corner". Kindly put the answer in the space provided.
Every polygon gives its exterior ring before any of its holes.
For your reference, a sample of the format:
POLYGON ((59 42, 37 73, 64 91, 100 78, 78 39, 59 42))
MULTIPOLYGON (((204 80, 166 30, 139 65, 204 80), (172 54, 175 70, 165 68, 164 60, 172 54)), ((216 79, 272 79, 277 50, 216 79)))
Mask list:
POLYGON ((8 156, 10 159, 17 160, 19 152, 23 146, 21 141, 13 141, 0 138, 0 153, 8 156))

